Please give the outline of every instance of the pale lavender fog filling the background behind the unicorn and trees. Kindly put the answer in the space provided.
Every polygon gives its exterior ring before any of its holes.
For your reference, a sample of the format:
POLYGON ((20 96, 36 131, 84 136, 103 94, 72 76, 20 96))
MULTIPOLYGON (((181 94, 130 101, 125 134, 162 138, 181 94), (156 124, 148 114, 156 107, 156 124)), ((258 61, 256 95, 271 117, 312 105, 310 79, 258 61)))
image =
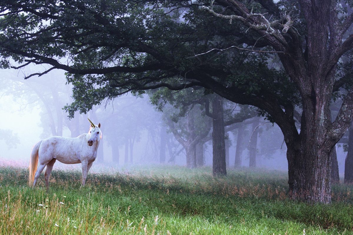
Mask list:
MULTIPOLYGON (((27 166, 31 148, 35 143, 52 135, 77 137, 86 133, 90 125, 87 118, 90 118, 95 124, 101 123, 103 133, 94 167, 96 165, 96 167, 126 168, 132 164, 160 164, 162 139, 166 140, 163 164, 186 165, 185 149, 177 141, 166 121, 170 116, 167 108, 173 109, 170 105, 166 105, 166 109, 160 112, 151 105, 147 94, 143 98, 126 94, 93 107, 87 114, 76 113, 74 119, 68 120, 67 113, 62 108, 72 102, 72 86, 66 85, 64 72, 54 70, 41 77, 34 76, 24 80, 24 74, 35 71, 37 68, 26 69, 27 71, 1 70, 0 74, 3 84, 0 89, 2 120, 0 160, 3 164, 13 162, 13 164, 27 166)), ((238 107, 230 103, 227 105, 238 107)), ((238 108, 234 108, 233 114, 237 110, 238 108)), ((202 111, 199 112, 194 114, 203 118, 199 122, 208 120, 202 115, 202 111)), ((180 118, 180 121, 175 123, 178 125, 179 132, 182 132, 187 125, 184 119, 180 118)), ((245 120, 244 123, 246 122, 245 120)), ((260 118, 258 122, 256 167, 287 171, 287 149, 283 143, 280 128, 263 118, 260 118)), ((195 128, 198 128, 197 124, 195 128)), ((251 123, 244 124, 244 131, 241 134, 243 135, 241 167, 244 168, 249 167, 250 138, 255 133, 252 128, 251 123)), ((204 144, 205 166, 212 164, 211 133, 212 130, 205 138, 209 139, 204 144)), ((230 168, 234 167, 238 134, 239 128, 233 128, 227 132, 229 137, 226 147, 227 149, 229 147, 228 167, 230 168)), ((343 177, 346 153, 338 144, 336 149, 340 177, 343 177)), ((63 166, 55 163, 54 169, 60 167, 63 166)), ((65 168, 68 167, 65 166, 65 168)))

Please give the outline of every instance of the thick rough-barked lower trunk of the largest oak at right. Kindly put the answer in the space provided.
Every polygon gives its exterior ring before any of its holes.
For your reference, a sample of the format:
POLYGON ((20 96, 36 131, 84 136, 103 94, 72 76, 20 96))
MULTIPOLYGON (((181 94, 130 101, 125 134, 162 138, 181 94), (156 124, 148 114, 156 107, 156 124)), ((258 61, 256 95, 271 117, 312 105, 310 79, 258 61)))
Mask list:
POLYGON ((325 140, 328 126, 331 124, 329 101, 331 93, 325 94, 321 85, 315 85, 316 91, 306 91, 310 99, 303 99, 301 118, 301 162, 304 162, 304 194, 299 198, 308 202, 331 202, 331 148, 335 142, 325 140), (321 91, 322 93, 319 93, 321 91), (318 96, 323 98, 319 99, 318 96))

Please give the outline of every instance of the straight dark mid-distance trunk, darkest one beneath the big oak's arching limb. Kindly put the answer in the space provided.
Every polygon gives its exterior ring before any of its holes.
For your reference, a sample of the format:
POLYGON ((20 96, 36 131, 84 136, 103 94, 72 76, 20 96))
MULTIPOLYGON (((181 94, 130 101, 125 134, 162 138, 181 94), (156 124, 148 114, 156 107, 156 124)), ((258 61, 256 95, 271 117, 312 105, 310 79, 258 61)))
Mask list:
POLYGON ((225 132, 223 119, 223 104, 222 97, 217 95, 212 99, 213 109, 213 132, 212 132, 212 146, 213 146, 213 167, 212 173, 216 175, 227 175, 226 170, 226 146, 225 146, 225 132))

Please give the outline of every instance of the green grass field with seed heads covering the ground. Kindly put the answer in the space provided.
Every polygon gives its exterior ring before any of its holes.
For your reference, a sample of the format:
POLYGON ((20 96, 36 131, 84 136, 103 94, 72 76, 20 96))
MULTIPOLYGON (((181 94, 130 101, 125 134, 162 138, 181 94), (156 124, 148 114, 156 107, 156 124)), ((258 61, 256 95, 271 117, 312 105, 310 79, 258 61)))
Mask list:
MULTIPOLYGON (((54 166, 55 169, 55 166, 54 166)), ((0 166, 0 234, 352 234, 352 186, 335 185, 331 205, 288 199, 287 173, 133 166, 41 175, 0 166), (305 229, 305 230, 304 230, 305 229)))

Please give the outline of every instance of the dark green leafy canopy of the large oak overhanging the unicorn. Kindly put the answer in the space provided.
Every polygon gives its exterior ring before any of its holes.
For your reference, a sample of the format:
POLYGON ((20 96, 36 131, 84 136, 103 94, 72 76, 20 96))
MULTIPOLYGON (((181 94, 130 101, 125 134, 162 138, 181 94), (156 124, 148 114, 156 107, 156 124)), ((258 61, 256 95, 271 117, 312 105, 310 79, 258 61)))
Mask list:
POLYGON ((7 0, 2 3, 0 23, 3 67, 10 66, 10 57, 20 63, 50 64, 52 58, 68 56, 71 66, 60 62, 52 66, 66 70, 67 81, 74 86, 74 102, 66 106, 71 117, 76 110, 86 112, 105 98, 128 91, 213 88, 200 80, 204 76, 213 76, 222 87, 236 87, 246 96, 269 95, 282 105, 297 104, 295 86, 283 73, 268 68, 267 56, 236 48, 205 53, 230 45, 243 48, 244 43, 263 47, 264 41, 240 23, 224 24, 210 17, 198 4, 81 0, 42 5, 34 0, 27 5, 7 0), (18 4, 21 10, 16 9, 18 4), (17 47, 14 35, 18 42, 28 43, 17 47))

